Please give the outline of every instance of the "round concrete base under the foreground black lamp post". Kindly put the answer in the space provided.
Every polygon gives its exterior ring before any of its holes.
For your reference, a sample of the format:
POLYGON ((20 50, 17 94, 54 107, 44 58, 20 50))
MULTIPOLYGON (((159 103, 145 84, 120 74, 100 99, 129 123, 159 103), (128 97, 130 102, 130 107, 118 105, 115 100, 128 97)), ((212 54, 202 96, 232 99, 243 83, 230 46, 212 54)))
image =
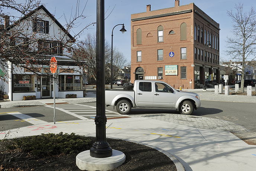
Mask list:
POLYGON ((90 150, 83 151, 76 156, 76 165, 81 170, 111 170, 125 162, 125 154, 123 152, 113 149, 112 153, 111 157, 95 158, 90 156, 90 150))

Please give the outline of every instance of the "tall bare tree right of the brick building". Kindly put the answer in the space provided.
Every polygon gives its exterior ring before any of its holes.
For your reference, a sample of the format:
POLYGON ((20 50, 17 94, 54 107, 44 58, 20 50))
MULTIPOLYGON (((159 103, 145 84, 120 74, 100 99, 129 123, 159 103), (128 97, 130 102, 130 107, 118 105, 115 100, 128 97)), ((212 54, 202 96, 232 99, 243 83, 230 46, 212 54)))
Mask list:
MULTIPOLYGON (((227 14, 232 19, 233 37, 227 37, 227 55, 242 61, 241 92, 244 92, 245 61, 255 60, 256 52, 256 11, 253 7, 249 12, 243 11, 243 4, 235 5, 236 12, 231 9, 227 14)), ((247 65, 250 65, 249 62, 247 65)))

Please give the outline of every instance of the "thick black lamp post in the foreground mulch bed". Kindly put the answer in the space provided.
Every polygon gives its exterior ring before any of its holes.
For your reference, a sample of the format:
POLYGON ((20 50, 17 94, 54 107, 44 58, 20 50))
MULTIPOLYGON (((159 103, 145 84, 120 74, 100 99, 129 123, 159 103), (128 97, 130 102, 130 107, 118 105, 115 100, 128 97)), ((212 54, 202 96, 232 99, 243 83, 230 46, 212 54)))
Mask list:
POLYGON ((97 0, 97 41, 96 41, 96 142, 90 149, 90 156, 106 158, 112 156, 112 148, 106 141, 105 114, 105 35, 104 35, 104 0, 97 0))

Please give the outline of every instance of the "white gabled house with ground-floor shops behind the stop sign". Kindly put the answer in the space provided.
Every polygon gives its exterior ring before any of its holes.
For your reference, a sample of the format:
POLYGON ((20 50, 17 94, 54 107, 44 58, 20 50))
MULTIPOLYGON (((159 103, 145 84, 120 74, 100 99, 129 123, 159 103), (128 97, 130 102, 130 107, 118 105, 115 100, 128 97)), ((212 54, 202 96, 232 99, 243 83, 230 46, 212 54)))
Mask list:
POLYGON ((63 46, 64 42, 65 45, 71 46, 75 40, 43 5, 26 14, 13 25, 9 25, 7 17, 6 25, 1 26, 1 29, 13 35, 17 30, 21 30, 22 34, 13 36, 11 42, 13 44, 10 43, 10 46, 23 45, 23 49, 17 50, 33 52, 37 55, 36 62, 41 62, 40 65, 32 64, 33 68, 24 68, 25 64, 13 65, 11 54, 7 54, 9 60, 6 63, 10 67, 0 69, 3 71, 2 74, 9 73, 9 76, 5 81, 0 81, 0 86, 9 95, 11 101, 23 100, 23 96, 52 98, 53 84, 55 84, 55 97, 65 98, 66 94, 83 97, 82 71, 71 58, 68 58, 68 56, 72 56, 72 52, 63 46), (33 44, 29 44, 24 50, 24 44, 32 38, 33 44), (57 59, 58 65, 55 72, 55 77, 57 76, 55 83, 52 78, 47 77, 51 73, 49 70, 51 57, 57 59))

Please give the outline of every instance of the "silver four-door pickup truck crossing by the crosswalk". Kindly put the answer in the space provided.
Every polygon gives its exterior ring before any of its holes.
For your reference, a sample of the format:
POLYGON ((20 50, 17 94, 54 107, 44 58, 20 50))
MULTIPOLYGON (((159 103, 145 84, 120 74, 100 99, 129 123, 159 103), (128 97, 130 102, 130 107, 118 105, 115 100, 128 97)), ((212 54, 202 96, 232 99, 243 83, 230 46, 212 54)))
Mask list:
POLYGON ((105 103, 118 113, 128 114, 131 108, 176 109, 181 114, 191 114, 201 105, 198 94, 177 91, 163 81, 135 80, 131 90, 105 90, 105 103))

